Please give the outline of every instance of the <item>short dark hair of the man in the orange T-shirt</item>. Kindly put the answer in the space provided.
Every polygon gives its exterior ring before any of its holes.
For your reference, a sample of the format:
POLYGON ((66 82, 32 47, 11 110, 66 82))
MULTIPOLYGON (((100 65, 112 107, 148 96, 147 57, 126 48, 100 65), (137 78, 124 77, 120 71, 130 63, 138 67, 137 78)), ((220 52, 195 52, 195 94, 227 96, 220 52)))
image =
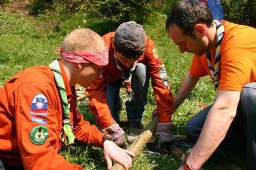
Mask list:
POLYGON ((194 26, 198 23, 204 23, 208 27, 213 26, 213 16, 208 7, 199 1, 179 1, 172 7, 171 13, 166 19, 165 29, 177 25, 183 30, 184 35, 194 37, 194 26))

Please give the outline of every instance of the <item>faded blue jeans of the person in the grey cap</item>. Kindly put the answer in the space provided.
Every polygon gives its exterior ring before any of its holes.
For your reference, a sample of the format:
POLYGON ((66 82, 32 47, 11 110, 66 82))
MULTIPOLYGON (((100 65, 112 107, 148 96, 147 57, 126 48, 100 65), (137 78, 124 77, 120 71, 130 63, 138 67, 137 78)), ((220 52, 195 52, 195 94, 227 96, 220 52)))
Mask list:
MULTIPOLYGON (((127 119, 132 122, 141 121, 145 105, 147 104, 147 94, 149 88, 149 71, 143 63, 137 63, 132 73, 132 90, 134 101, 126 101, 127 119)), ((119 91, 124 79, 119 79, 113 83, 107 83, 107 104, 111 115, 116 123, 119 123, 119 91)), ((128 95, 128 94, 127 94, 128 95)))

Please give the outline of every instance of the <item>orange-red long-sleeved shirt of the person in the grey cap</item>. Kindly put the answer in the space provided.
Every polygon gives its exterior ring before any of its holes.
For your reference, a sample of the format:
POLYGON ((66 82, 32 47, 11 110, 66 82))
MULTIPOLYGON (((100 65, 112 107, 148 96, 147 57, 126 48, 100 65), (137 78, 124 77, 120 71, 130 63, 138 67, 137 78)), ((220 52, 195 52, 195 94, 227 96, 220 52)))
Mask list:
MULTIPOLYGON (((86 89, 87 96, 90 99, 88 106, 91 112, 97 117, 99 125, 104 128, 115 124, 107 106, 107 98, 105 96, 107 90, 106 83, 121 79, 111 44, 114 35, 115 32, 110 32, 102 37, 109 48, 108 65, 105 66, 102 79, 96 80, 86 89)), ((148 36, 146 36, 146 51, 144 51, 143 55, 138 59, 138 63, 144 63, 149 69, 152 87, 157 101, 159 122, 171 122, 171 113, 174 104, 173 94, 170 91, 165 65, 160 58, 158 58, 155 44, 148 36)))

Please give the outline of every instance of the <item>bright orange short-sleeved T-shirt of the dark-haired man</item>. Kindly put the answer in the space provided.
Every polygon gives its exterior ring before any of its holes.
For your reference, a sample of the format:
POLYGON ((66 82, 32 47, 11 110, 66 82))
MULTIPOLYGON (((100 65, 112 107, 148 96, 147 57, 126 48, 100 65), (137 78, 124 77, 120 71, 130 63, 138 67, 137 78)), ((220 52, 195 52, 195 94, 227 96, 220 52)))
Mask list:
MULTIPOLYGON (((225 32, 221 42, 218 90, 241 91, 246 83, 256 82, 256 29, 220 22, 224 24, 225 32)), ((215 51, 210 53, 214 66, 215 51)), ((194 55, 190 73, 196 77, 210 75, 205 54, 194 55)))

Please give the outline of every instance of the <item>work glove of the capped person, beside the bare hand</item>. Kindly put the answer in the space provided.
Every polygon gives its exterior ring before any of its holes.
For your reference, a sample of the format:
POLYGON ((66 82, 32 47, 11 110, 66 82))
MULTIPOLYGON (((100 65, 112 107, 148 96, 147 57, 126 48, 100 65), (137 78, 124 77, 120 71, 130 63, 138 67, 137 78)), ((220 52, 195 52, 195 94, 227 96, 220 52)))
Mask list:
POLYGON ((113 137, 113 142, 119 147, 127 147, 127 134, 124 133, 124 130, 119 127, 119 124, 113 124, 110 127, 107 127, 102 130, 104 133, 108 133, 113 137))

